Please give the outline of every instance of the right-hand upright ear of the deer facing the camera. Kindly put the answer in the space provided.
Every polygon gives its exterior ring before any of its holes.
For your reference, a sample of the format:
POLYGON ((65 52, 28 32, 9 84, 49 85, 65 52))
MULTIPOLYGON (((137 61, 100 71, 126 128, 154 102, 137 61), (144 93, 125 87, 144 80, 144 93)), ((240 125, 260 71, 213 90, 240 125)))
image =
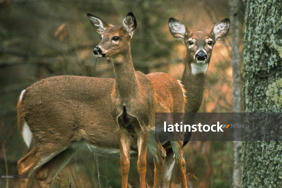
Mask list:
POLYGON ((225 18, 219 21, 217 24, 213 26, 213 30, 211 34, 214 36, 215 40, 223 39, 229 31, 230 20, 225 18))

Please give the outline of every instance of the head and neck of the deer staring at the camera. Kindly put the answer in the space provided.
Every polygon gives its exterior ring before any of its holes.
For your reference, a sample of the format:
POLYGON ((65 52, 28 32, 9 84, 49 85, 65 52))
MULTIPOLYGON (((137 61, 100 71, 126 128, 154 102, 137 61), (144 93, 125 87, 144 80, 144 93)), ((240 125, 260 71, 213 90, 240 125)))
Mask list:
MULTIPOLYGON (((180 83, 185 89, 185 112, 196 113, 201 107, 206 71, 212 57, 213 45, 228 34, 229 26, 230 20, 225 18, 215 24, 209 33, 190 32, 180 21, 169 18, 170 33, 186 46, 187 61, 180 79, 180 83)), ((184 118, 185 120, 191 119, 191 115, 186 114, 184 118)), ((184 135, 183 147, 189 142, 190 138, 191 132, 184 135)), ((173 160, 171 163, 173 163, 173 160)), ((170 179, 168 182, 170 182, 170 179)))

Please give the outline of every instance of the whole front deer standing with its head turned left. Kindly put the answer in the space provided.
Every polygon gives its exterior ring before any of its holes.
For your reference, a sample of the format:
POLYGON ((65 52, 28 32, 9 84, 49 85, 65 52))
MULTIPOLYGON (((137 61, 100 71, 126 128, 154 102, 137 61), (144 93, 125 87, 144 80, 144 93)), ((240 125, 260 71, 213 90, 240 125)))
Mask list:
MULTIPOLYGON (((132 13, 128 13, 124 18, 122 27, 110 25, 90 14, 88 17, 97 32, 102 34, 102 41, 94 49, 94 55, 109 57, 114 67, 116 82, 111 96, 112 115, 118 129, 122 188, 127 188, 130 145, 132 144, 138 149, 137 168, 140 186, 146 187, 148 147, 155 164, 153 187, 159 188, 166 152, 161 143, 155 141, 154 115, 155 112, 184 112, 184 91, 179 82, 168 74, 144 75, 134 70, 130 39, 136 28, 136 20, 132 13)), ((182 158, 183 142, 172 141, 170 144, 177 156, 182 187, 186 188, 185 161, 182 158)))

